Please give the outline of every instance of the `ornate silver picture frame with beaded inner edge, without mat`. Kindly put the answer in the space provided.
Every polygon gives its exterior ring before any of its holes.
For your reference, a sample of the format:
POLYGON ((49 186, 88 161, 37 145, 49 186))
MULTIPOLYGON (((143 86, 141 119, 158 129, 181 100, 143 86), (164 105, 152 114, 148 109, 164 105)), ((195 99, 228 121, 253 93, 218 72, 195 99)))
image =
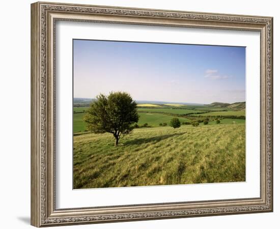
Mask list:
MULTIPOLYGON (((273 18, 38 2, 31 5, 31 224, 59 226, 273 211, 273 18), (55 180, 55 29, 58 21, 260 33, 260 196, 59 209, 55 180)), ((72 68, 69 66, 69 68, 72 68)), ((248 148, 248 150, 250 150, 248 148)), ((70 176, 70 175, 69 175, 70 176)))

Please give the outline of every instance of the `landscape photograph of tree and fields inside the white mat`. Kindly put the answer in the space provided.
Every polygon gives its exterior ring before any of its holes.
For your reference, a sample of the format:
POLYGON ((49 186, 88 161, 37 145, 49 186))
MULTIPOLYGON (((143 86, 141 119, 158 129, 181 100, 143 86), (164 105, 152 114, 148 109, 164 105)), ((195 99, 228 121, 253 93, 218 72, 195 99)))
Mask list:
POLYGON ((246 49, 73 40, 73 188, 245 182, 246 49))

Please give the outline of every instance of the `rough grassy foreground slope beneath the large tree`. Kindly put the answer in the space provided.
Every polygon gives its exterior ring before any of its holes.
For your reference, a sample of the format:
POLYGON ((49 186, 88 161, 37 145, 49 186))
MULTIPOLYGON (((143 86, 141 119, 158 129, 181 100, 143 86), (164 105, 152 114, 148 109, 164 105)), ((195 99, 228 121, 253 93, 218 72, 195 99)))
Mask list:
POLYGON ((135 129, 74 136, 74 188, 245 181, 245 125, 135 129))

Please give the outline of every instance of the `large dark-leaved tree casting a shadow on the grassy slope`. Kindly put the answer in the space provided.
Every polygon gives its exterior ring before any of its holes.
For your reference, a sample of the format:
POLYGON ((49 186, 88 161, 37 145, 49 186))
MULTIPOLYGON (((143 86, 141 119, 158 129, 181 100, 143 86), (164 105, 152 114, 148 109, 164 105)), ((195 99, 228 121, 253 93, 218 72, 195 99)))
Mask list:
POLYGON ((113 134, 116 138, 115 146, 118 145, 121 135, 131 133, 132 124, 137 123, 138 119, 137 103, 125 92, 98 95, 85 116, 88 130, 113 134))

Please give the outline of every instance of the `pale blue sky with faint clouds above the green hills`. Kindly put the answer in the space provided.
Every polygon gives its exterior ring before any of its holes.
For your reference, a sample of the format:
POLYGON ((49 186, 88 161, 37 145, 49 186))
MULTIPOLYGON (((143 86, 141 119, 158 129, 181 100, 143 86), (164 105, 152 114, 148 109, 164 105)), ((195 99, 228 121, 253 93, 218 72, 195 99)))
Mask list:
POLYGON ((245 47, 73 40, 75 98, 125 91, 134 100, 245 101, 245 47))

